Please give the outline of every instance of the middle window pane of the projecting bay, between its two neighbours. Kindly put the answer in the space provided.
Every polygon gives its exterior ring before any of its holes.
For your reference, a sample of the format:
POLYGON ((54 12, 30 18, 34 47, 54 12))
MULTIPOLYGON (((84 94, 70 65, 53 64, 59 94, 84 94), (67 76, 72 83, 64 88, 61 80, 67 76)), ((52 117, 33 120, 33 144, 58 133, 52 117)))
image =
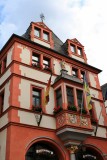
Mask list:
POLYGON ((67 92, 68 105, 70 105, 70 106, 74 105, 73 88, 67 87, 66 92, 67 92))

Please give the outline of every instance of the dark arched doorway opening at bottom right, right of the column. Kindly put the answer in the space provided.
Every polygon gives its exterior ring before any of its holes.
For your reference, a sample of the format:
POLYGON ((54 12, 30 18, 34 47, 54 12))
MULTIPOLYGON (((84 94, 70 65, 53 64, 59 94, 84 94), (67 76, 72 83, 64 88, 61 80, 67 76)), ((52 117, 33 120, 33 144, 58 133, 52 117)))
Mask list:
POLYGON ((81 146, 76 152, 76 160, 104 160, 101 153, 91 146, 81 146))

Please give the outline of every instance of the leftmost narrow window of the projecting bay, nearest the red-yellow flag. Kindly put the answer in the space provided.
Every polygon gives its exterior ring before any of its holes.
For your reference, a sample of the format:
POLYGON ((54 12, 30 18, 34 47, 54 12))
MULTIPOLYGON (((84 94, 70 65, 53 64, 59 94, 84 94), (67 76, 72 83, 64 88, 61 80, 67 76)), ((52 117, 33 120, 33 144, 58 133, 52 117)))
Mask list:
POLYGON ((56 105, 57 107, 62 107, 62 93, 61 93, 61 88, 56 90, 56 105))

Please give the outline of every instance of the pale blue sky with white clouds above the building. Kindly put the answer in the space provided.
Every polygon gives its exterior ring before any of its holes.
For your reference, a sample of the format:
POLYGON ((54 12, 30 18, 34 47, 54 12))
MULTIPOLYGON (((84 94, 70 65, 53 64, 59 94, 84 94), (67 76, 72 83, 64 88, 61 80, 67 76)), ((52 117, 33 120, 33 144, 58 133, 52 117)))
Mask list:
POLYGON ((30 22, 44 23, 63 41, 77 38, 88 64, 102 70, 100 85, 107 83, 107 0, 0 0, 0 50, 9 37, 25 33, 30 22))

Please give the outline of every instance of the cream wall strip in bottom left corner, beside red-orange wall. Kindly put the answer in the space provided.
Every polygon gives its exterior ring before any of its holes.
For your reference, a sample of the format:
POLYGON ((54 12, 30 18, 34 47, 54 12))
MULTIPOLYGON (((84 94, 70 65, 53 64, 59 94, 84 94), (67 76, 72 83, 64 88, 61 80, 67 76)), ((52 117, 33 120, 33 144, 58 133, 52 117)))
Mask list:
POLYGON ((0 160, 5 160, 6 158, 6 136, 7 129, 0 132, 0 160))

